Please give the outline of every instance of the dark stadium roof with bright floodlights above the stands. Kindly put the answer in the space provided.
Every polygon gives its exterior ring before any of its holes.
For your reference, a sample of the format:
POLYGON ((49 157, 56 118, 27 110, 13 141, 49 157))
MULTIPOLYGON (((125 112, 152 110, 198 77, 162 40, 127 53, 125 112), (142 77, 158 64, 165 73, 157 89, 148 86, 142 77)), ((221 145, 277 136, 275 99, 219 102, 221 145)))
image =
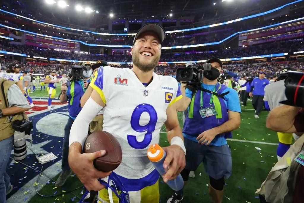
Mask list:
MULTIPOLYGON (((69 7, 65 9, 60 9, 56 5, 47 5, 43 0, 19 0, 18 2, 24 10, 35 14, 36 17, 40 16, 41 20, 49 19, 53 23, 67 23, 74 20, 79 25, 98 25, 98 23, 104 23, 103 17, 109 18, 110 13, 114 14, 113 20, 119 18, 162 19, 169 18, 170 14, 175 19, 192 16, 195 22, 206 19, 229 20, 233 15, 243 17, 248 14, 257 14, 294 2, 294 0, 79 0, 77 2, 64 0, 69 4, 69 7), (82 5, 83 8, 90 7, 92 11, 98 11, 98 14, 94 12, 95 17, 79 14, 75 10, 76 4, 82 5)), ((10 6, 9 3, 6 5, 10 6)))

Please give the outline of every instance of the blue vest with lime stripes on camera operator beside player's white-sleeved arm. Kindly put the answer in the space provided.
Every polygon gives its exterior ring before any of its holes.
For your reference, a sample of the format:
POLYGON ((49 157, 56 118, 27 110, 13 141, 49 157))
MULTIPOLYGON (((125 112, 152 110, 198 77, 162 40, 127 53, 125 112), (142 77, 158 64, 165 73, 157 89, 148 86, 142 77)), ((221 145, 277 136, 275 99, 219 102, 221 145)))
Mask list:
POLYGON ((67 87, 67 96, 68 106, 69 106, 69 115, 71 117, 77 117, 79 112, 81 111, 80 100, 82 95, 85 93, 83 91, 83 81, 71 82, 71 85, 67 87))

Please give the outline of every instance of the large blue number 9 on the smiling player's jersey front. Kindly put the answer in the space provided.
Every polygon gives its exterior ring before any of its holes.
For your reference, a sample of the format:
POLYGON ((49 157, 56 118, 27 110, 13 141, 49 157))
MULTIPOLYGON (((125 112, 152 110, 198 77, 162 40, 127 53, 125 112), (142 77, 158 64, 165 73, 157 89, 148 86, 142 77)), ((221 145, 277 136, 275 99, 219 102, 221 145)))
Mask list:
POLYGON ((135 149, 144 149, 149 146, 152 140, 152 132, 155 130, 156 123, 157 113, 154 107, 147 103, 139 104, 137 107, 135 107, 131 116, 131 127, 136 132, 147 131, 147 133, 141 142, 137 141, 135 135, 128 135, 129 145, 135 149), (150 121, 146 125, 139 124, 140 116, 143 112, 147 112, 150 116, 150 121))

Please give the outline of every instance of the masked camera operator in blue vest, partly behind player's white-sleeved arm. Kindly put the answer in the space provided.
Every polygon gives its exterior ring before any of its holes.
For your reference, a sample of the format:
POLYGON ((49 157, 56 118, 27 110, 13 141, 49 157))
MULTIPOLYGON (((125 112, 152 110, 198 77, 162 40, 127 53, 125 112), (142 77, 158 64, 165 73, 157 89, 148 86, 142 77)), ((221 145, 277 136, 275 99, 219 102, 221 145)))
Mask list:
MULTIPOLYGON (((80 99, 85 93, 88 82, 91 81, 92 75, 92 64, 89 62, 84 62, 82 66, 85 69, 89 69, 82 72, 83 78, 85 79, 74 79, 71 77, 71 82, 67 84, 61 84, 61 95, 59 97, 60 102, 64 103, 68 101, 69 107, 69 118, 67 124, 64 127, 64 140, 62 146, 62 160, 61 160, 61 173, 56 181, 56 186, 60 187, 64 185, 67 178, 71 175, 72 171, 67 161, 67 156, 69 152, 69 135, 71 131, 72 124, 76 119, 77 115, 81 111, 80 99), (88 68, 89 67, 89 68, 88 68)), ((73 71, 73 68, 72 68, 73 71)))

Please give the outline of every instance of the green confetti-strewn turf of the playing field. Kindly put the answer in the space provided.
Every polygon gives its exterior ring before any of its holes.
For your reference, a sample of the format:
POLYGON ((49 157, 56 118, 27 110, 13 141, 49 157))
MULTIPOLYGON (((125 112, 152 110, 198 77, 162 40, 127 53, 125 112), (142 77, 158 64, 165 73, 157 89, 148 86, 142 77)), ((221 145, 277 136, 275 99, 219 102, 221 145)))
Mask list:
MULTIPOLYGON (((57 94, 58 92, 60 92, 60 89, 57 91, 57 94)), ((33 94, 40 95, 40 90, 35 91, 33 94)), ((247 107, 242 107, 242 109, 244 110, 242 110, 241 114, 240 128, 233 131, 233 139, 237 139, 239 141, 228 141, 228 145, 230 145, 232 152, 233 169, 231 177, 226 180, 226 186, 224 187, 225 198, 223 199, 223 203, 259 202, 259 199, 256 198, 258 195, 255 194, 255 191, 261 186, 261 183, 267 177, 271 167, 277 162, 276 145, 257 144, 251 142, 278 142, 276 132, 273 132, 265 127, 265 120, 268 112, 261 112, 260 118, 256 119, 254 118, 254 110, 250 110, 252 109, 251 103, 248 102, 247 107), (261 148, 261 151, 255 149, 255 147, 261 148)), ((178 116, 182 126, 181 113, 178 113, 178 116)), ((161 146, 167 146, 168 141, 166 138, 165 129, 163 131, 164 133, 161 133, 160 144, 161 146)), ((53 179, 57 180, 57 177, 58 175, 53 179)), ((160 202, 166 202, 173 194, 173 191, 161 181, 163 180, 160 179, 160 202)), ((209 178, 201 164, 195 171, 195 178, 189 178, 188 184, 184 189, 185 197, 183 202, 211 202, 208 195, 207 184, 209 184, 209 178)), ((79 186, 81 186, 81 182, 76 176, 74 176, 67 180, 64 188, 65 191, 69 191, 79 186)), ((41 186, 38 186, 37 188, 40 190, 40 193, 45 195, 52 195, 55 191, 58 191, 58 194, 59 192, 61 193, 62 189, 53 189, 54 187, 54 184, 46 184, 42 187, 42 189, 40 189, 41 186)), ((81 197, 80 192, 82 190, 82 188, 75 190, 74 194, 81 197)), ((39 195, 35 195, 30 202, 67 203, 72 202, 71 198, 75 197, 74 194, 65 193, 64 197, 60 195, 60 201, 58 199, 55 200, 57 197, 42 198, 39 195)), ((79 201, 79 199, 75 198, 74 202, 77 201, 79 201)))

